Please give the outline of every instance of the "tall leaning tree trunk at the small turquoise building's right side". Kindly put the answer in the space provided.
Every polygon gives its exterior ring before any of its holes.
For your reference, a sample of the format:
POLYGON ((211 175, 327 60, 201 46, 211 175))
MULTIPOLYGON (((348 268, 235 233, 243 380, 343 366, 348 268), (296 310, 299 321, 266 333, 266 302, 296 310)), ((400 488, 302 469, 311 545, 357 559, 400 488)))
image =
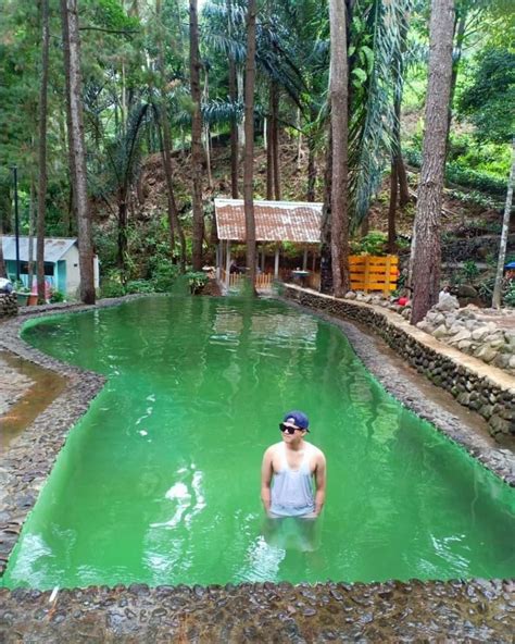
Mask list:
POLYGON ((95 304, 93 249, 91 219, 86 181, 86 149, 84 145, 80 40, 78 33, 77 0, 61 0, 63 24, 64 71, 70 106, 70 148, 74 157, 73 185, 78 224, 78 262, 80 268, 80 299, 95 304))

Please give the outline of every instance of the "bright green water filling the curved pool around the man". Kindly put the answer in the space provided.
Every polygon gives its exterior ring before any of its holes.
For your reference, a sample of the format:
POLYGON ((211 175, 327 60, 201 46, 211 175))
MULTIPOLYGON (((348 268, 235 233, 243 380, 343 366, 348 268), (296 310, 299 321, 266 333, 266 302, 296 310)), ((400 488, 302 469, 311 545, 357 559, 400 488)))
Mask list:
POLYGON ((26 521, 9 587, 515 574, 513 491, 388 396, 315 317, 149 297, 23 336, 109 380, 26 521), (294 533, 269 543, 260 503, 262 454, 291 408, 328 463, 306 548, 294 533))

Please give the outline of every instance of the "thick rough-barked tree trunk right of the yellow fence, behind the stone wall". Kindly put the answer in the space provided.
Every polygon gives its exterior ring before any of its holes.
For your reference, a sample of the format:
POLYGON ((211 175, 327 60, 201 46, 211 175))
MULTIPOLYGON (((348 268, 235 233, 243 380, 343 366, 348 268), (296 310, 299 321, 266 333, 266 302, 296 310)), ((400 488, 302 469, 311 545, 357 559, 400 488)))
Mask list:
POLYGON ((440 290, 440 216, 451 91, 453 23, 454 1, 432 0, 423 161, 415 215, 415 244, 412 244, 412 324, 419 322, 437 302, 440 290))

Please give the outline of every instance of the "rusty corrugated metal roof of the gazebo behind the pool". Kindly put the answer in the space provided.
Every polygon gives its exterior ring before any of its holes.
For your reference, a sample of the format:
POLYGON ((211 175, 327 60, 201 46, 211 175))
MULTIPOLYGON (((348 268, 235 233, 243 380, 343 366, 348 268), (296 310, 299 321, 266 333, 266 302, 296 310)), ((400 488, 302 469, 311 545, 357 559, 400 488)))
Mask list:
MULTIPOLYGON (((318 244, 322 203, 309 201, 254 201, 256 242, 318 244)), ((219 239, 244 242, 242 199, 215 199, 219 239)))

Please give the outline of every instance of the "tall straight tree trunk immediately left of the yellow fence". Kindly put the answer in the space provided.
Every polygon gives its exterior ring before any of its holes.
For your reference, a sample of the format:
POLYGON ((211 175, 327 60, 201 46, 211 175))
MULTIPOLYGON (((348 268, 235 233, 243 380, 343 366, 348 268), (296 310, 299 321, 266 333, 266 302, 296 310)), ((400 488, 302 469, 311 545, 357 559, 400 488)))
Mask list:
POLYGON ((331 264, 332 289, 342 297, 349 289, 349 149, 348 149, 348 59, 344 0, 329 0, 330 106, 332 134, 331 264))

